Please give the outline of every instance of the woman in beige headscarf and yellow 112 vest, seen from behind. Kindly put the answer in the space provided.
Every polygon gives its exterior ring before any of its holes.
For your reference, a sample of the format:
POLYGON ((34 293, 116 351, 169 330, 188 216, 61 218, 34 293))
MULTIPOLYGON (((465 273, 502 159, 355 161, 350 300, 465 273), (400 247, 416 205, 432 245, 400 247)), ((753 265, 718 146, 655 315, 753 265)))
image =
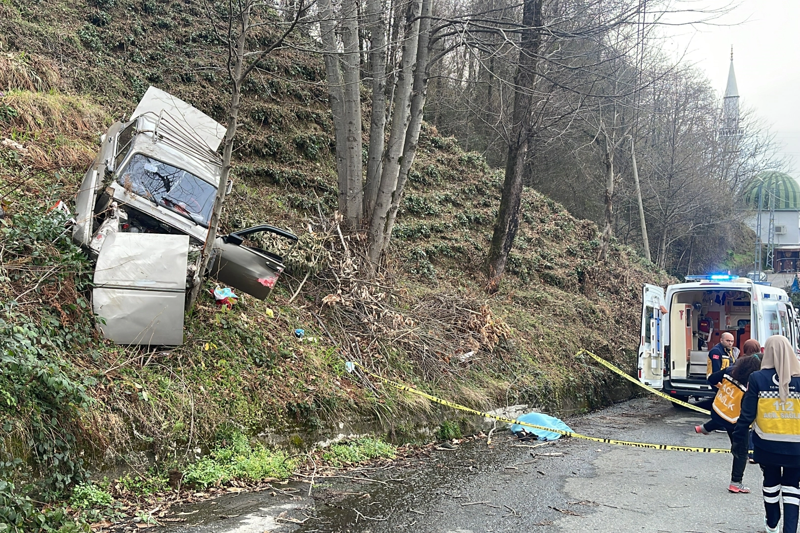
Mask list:
POLYGON ((777 533, 783 499, 783 531, 796 533, 800 506, 800 361, 789 340, 766 340, 761 370, 750 374, 734 447, 746 452, 753 424, 753 455, 764 473, 766 531, 777 533))

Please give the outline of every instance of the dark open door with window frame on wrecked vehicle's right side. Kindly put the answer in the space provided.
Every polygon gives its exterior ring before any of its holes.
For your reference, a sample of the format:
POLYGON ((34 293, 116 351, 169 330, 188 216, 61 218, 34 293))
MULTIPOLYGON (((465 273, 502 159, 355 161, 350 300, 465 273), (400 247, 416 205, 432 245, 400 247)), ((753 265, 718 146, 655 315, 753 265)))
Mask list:
POLYGON ((294 233, 269 225, 223 235, 214 243, 210 275, 258 300, 265 300, 286 268, 283 257, 263 249, 262 242, 270 234, 292 241, 292 248, 297 245, 298 237, 294 233))

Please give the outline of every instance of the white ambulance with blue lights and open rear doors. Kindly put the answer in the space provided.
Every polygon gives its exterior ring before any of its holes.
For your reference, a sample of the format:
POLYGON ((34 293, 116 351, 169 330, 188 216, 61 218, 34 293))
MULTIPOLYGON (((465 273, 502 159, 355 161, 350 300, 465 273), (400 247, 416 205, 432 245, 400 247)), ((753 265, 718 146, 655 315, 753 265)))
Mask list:
POLYGON ((713 397, 706 365, 722 333, 730 332, 740 350, 751 338, 763 347, 773 335, 785 335, 797 350, 796 318, 786 291, 746 277, 686 276, 666 291, 645 284, 639 380, 678 400, 713 397))

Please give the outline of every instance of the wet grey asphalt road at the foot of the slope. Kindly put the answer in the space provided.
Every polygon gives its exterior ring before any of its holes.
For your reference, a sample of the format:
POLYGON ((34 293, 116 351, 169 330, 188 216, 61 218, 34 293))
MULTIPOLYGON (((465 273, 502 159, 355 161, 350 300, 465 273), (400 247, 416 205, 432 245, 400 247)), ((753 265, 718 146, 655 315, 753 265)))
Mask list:
MULTIPOLYGON (((729 447, 725 434, 701 436, 700 413, 654 398, 630 400, 567 420, 593 436, 662 444, 729 447)), ((176 533, 351 531, 614 531, 734 533, 763 531, 758 467, 748 465, 749 495, 727 490, 730 455, 658 451, 577 439, 513 447, 506 434, 431 451, 417 467, 347 472, 374 479, 322 479, 281 491, 226 495, 197 511, 176 533), (537 453, 535 457, 532 453, 537 453), (541 455, 541 454, 556 455, 541 455), (557 455, 563 454, 563 455, 557 455)))

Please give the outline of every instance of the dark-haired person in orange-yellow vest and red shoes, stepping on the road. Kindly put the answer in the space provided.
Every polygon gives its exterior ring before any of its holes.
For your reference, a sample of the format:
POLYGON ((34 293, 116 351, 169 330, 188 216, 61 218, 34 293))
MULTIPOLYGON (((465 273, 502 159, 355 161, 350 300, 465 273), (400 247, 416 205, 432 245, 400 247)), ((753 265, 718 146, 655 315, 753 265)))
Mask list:
POLYGON ((747 452, 742 454, 734 449, 734 428, 742 408, 742 397, 747 390, 744 384, 750 379, 750 374, 758 371, 758 368, 761 368, 761 360, 758 357, 739 357, 734 366, 711 374, 708 377, 709 384, 716 385, 719 389, 717 396, 714 396, 711 420, 694 428, 695 432, 703 435, 708 435, 716 429, 724 429, 728 433, 731 451, 734 454, 728 486, 730 492, 750 492, 750 488, 742 483, 747 466, 747 452))

